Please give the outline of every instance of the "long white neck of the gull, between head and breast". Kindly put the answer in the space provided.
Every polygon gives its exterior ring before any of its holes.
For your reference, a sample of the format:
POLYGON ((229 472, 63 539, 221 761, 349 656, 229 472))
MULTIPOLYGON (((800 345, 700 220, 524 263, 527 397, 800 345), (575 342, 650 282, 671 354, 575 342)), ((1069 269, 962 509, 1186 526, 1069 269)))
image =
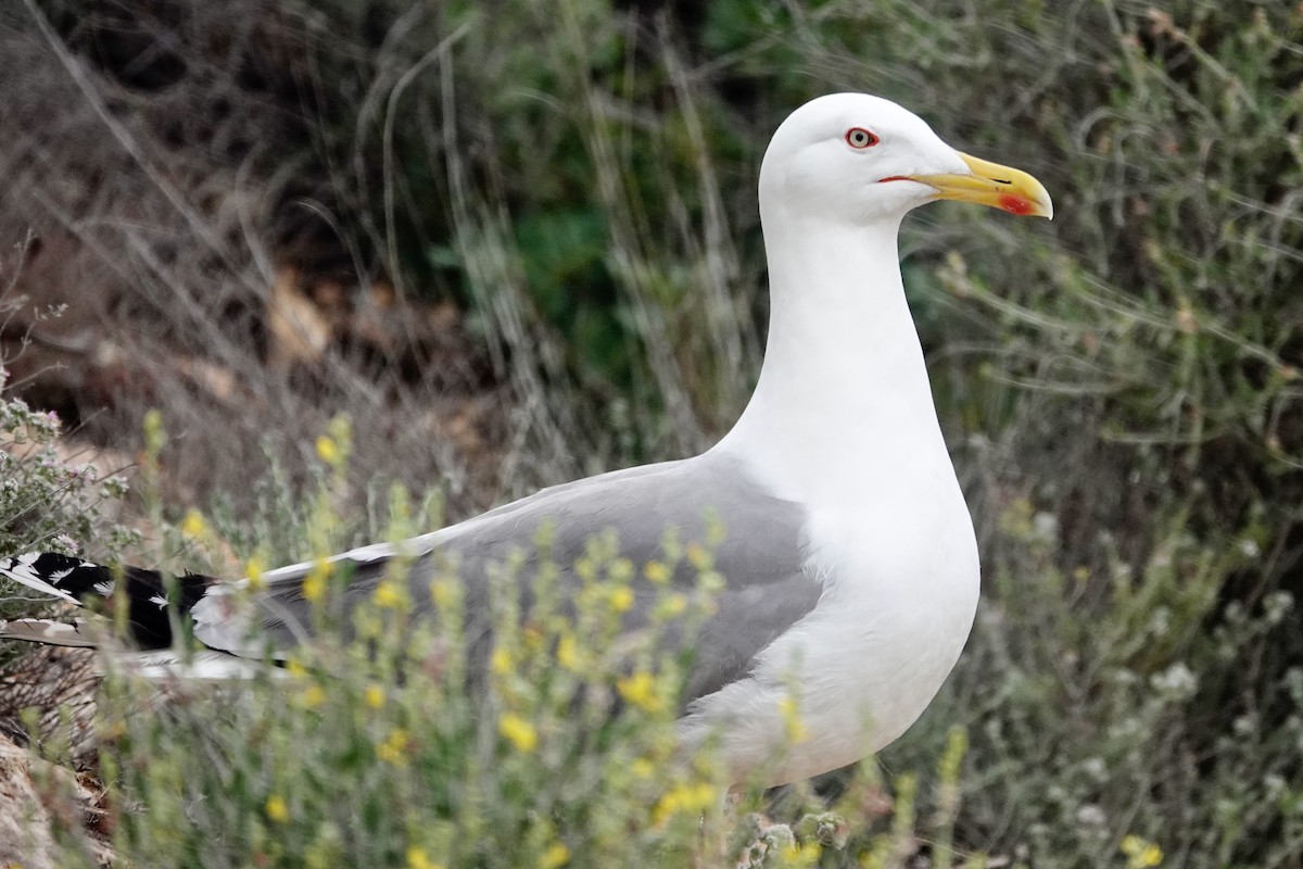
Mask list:
MULTIPOLYGON (((764 203, 762 203, 764 206, 764 203)), ((756 392, 719 448, 803 499, 954 470, 904 300, 899 219, 848 227, 761 210, 770 323, 756 392)))

